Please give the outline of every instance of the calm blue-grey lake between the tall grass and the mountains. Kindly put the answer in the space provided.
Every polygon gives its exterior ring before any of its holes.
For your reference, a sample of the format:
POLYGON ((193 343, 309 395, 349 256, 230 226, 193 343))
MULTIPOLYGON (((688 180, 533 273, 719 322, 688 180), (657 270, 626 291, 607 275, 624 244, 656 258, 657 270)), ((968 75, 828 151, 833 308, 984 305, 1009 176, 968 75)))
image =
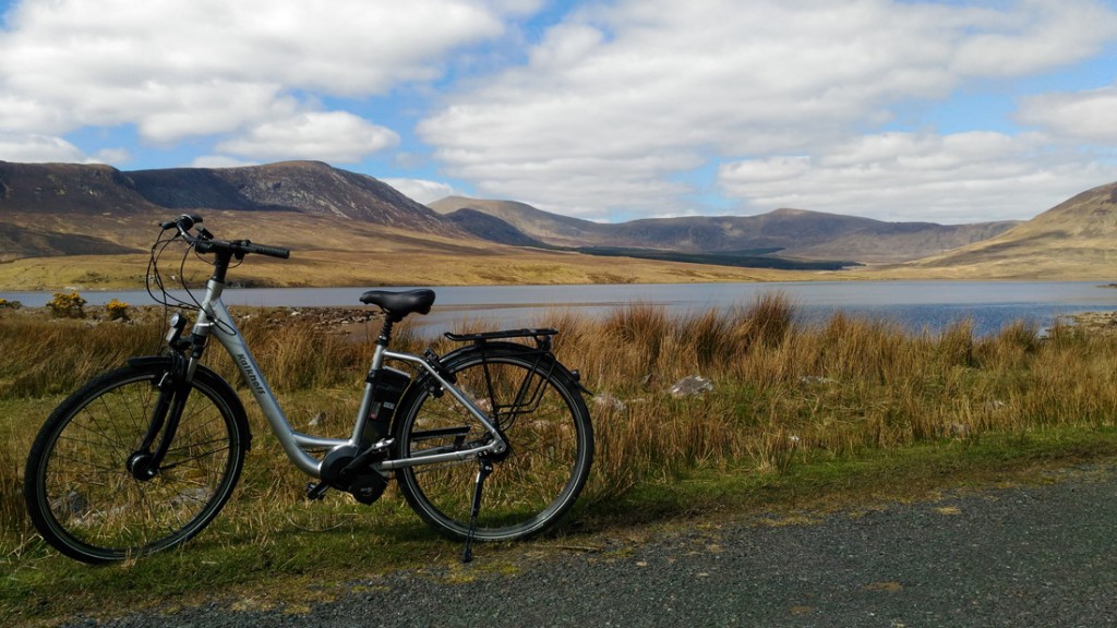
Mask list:
MULTIPOLYGON (((365 287, 229 289, 229 305, 360 306, 365 287)), ((407 289, 407 288, 389 288, 407 289)), ((1043 327, 1056 317, 1080 312, 1117 311, 1117 289, 1100 282, 789 282, 747 284, 630 284, 577 286, 445 286, 422 318, 432 332, 461 320, 484 320, 505 327, 532 326, 554 308, 600 315, 628 303, 662 305, 672 314, 751 304, 782 293, 799 320, 815 322, 842 311, 853 316, 896 321, 911 331, 938 331, 971 320, 975 333, 995 333, 1015 321, 1043 327)), ((83 292, 90 305, 117 298, 131 305, 152 303, 144 291, 83 292)), ((0 293, 28 307, 41 307, 50 293, 0 293)))

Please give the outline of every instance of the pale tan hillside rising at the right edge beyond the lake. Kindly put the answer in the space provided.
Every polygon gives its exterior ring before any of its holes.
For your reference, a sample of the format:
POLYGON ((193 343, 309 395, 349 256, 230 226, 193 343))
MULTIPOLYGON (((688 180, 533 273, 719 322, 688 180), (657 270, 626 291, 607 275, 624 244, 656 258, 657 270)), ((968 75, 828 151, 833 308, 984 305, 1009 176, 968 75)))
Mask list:
POLYGON ((1087 190, 989 240, 888 272, 1111 279, 1117 277, 1117 183, 1087 190))

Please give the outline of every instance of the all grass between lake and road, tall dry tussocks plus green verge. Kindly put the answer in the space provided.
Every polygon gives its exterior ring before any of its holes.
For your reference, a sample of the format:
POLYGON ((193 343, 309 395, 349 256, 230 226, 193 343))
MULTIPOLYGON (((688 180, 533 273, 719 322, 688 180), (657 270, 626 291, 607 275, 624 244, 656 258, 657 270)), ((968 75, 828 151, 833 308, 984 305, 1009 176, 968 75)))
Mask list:
MULTIPOLYGON (((371 507, 341 495, 307 504, 306 478, 286 464, 252 408, 257 438, 241 485, 182 550, 94 569, 46 548, 20 495, 30 441, 80 381, 152 352, 162 334, 157 318, 133 318, 0 316, 0 346, 11 356, 0 362, 0 616, 30 621, 178 596, 182 603, 266 597, 276 578, 312 599, 362 574, 456 560, 460 548, 426 530, 391 487, 371 507)), ((299 318, 254 315, 242 329, 296 428, 341 436, 372 349, 302 333, 289 322, 299 318)), ((558 533, 574 543, 678 515, 758 516, 896 498, 960 478, 999 482, 1117 455, 1117 339, 1072 327, 1040 337, 1016 324, 975 337, 962 323, 910 334, 840 314, 806 325, 780 294, 682 317, 633 304, 602 320, 554 312, 540 323, 562 330, 556 353, 596 393, 589 400, 594 472, 558 533), (670 393, 694 375, 713 390, 670 393)), ((399 340, 398 349, 420 349, 407 333, 399 340)), ((236 381, 227 360, 211 367, 236 381)))

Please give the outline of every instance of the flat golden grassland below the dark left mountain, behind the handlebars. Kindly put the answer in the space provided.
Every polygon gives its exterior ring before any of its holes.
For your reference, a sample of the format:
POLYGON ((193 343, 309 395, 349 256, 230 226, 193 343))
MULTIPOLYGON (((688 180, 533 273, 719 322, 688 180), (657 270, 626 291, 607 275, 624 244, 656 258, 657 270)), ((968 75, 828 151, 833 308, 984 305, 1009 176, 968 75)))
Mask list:
MULTIPOLYGON (((130 217, 83 223, 83 234, 136 247, 135 255, 61 256, 0 264, 0 289, 139 289, 145 251, 166 217, 130 217), (123 234, 123 236, 121 235, 123 234)), ((267 212, 213 211, 206 226, 218 237, 250 237, 289 247, 292 257, 257 257, 237 269, 237 280, 266 286, 446 286, 494 284, 626 284, 798 280, 811 273, 601 258, 493 242, 417 234, 380 225, 267 212)), ((59 228, 52 226, 51 228, 59 228)), ((179 266, 168 254, 166 268, 179 266)), ((208 267, 191 264, 195 273, 208 267)))

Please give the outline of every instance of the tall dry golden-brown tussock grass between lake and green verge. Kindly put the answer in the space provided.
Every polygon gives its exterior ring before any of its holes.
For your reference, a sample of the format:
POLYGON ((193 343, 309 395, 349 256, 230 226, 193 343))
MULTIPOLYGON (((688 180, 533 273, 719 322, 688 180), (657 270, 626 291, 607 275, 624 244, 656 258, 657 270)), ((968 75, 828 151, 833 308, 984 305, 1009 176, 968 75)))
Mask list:
MULTIPOLYGON (((1049 428, 1108 430, 1117 421, 1117 339, 1068 326, 1040 337, 1037 327, 1018 323, 977 337, 967 322, 915 334, 843 314, 800 324, 781 294, 685 316, 650 304, 621 306, 601 320, 556 310, 538 324, 561 330, 556 353, 595 393, 588 402, 598 456, 575 518, 623 517, 639 510, 632 499, 641 491, 694 473, 781 477, 805 464, 873 451, 973 446, 1049 428), (672 384, 694 377, 713 390, 671 393, 672 384)), ((308 331, 297 316, 258 316, 242 330, 296 428, 345 435, 371 342, 308 331)), ((0 317, 8 356, 0 362, 0 564, 51 554, 34 540, 19 495, 27 448, 42 419, 61 394, 128 355, 151 352, 161 334, 155 324, 0 317)), ((397 341, 402 351, 424 346, 405 327, 397 341)), ((454 346, 435 343, 440 353, 454 346)), ((242 386, 219 354, 210 353, 211 365, 242 386)), ((307 531, 333 534, 338 543, 357 536, 376 546, 429 542, 392 488, 374 516, 344 496, 305 504, 306 478, 242 396, 257 438, 240 489, 188 549, 223 548, 239 556, 248 544, 283 554, 292 544, 323 542, 295 541, 307 531)))

